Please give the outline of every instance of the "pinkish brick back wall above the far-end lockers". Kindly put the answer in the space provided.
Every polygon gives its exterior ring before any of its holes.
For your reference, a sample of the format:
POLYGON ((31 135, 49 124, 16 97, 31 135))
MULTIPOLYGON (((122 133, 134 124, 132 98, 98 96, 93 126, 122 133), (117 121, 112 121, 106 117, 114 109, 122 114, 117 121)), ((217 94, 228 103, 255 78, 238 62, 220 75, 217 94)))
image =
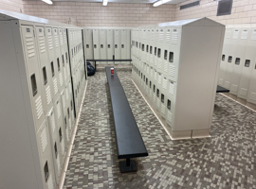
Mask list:
POLYGON ((26 14, 77 26, 141 26, 174 21, 174 5, 24 1, 26 14))

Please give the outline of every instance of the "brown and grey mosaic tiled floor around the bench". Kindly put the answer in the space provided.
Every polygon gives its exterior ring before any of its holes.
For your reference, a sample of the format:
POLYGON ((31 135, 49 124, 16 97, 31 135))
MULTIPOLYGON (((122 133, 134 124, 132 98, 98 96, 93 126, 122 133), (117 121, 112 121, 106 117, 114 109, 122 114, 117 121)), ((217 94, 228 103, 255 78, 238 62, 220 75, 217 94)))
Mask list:
POLYGON ((89 77, 64 188, 256 188, 256 114, 218 94, 211 138, 172 141, 130 80, 118 72, 149 156, 119 173, 106 76, 89 77))

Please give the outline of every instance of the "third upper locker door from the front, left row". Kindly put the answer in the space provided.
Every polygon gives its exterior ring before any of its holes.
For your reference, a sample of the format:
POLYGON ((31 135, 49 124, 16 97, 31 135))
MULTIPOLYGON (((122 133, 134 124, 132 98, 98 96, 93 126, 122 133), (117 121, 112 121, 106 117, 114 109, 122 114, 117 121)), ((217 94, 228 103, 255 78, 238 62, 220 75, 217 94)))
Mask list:
POLYGON ((52 35, 52 28, 51 27, 46 27, 46 44, 48 48, 48 58, 49 61, 47 62, 49 67, 50 67, 50 74, 49 77, 51 77, 52 80, 52 86, 53 86, 53 101, 57 99, 59 96, 58 93, 58 66, 57 66, 57 60, 55 59, 55 48, 54 48, 54 43, 53 43, 53 35, 52 35))

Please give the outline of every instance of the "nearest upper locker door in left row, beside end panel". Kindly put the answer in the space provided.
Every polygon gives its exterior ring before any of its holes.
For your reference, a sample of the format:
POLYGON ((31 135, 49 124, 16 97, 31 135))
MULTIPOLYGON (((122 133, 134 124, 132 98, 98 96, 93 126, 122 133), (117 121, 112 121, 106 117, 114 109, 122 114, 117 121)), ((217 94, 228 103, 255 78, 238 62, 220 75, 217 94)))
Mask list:
POLYGON ((42 91, 42 80, 40 76, 40 67, 38 62, 38 54, 35 49, 35 34, 33 26, 21 26, 22 39, 26 57, 27 78, 30 91, 30 99, 34 112, 34 123, 36 130, 43 124, 46 117, 44 111, 44 93, 42 91))

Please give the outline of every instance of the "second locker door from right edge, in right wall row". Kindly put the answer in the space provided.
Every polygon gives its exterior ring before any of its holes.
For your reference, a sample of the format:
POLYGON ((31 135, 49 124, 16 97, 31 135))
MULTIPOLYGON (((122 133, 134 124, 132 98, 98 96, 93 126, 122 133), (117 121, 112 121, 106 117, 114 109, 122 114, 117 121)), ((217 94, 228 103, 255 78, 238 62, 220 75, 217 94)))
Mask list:
POLYGON ((242 63, 242 75, 239 83, 238 97, 247 99, 250 79, 254 69, 254 60, 256 60, 256 29, 251 28, 248 37, 247 51, 245 60, 242 63))

